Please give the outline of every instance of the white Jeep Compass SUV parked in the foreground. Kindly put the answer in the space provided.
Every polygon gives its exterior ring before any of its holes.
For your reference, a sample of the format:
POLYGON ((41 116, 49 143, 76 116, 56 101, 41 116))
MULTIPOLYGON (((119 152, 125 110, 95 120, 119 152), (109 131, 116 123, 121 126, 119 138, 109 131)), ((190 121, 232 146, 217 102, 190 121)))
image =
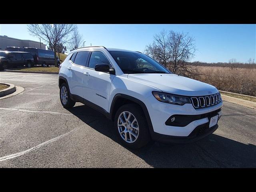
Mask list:
POLYGON ((214 86, 172 74, 135 51, 78 48, 61 64, 58 83, 64 108, 82 102, 102 112, 130 148, 151 139, 196 141, 214 132, 222 115, 214 86))

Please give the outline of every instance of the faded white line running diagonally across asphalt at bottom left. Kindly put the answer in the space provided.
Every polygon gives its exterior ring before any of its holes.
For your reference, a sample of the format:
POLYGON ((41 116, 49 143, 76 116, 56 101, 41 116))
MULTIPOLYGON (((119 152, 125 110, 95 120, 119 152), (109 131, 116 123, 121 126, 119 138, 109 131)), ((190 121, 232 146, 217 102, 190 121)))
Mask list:
POLYGON ((0 162, 1 162, 1 161, 8 160, 8 159, 15 158, 15 157, 18 157, 18 156, 21 156, 21 155, 24 155, 24 154, 26 154, 26 153, 28 153, 28 152, 30 152, 30 151, 32 151, 32 150, 35 150, 35 149, 38 149, 38 148, 42 147, 42 146, 44 146, 44 145, 46 145, 46 144, 48 144, 48 143, 54 142, 54 141, 56 141, 56 140, 59 140, 60 138, 62 138, 62 137, 64 137, 64 136, 67 136, 68 134, 74 132, 75 130, 77 130, 77 129, 81 128, 81 127, 82 127, 82 126, 77 127, 77 128, 74 128, 74 129, 72 129, 70 132, 67 132, 67 133, 62 134, 62 135, 60 135, 60 136, 58 136, 58 137, 52 138, 52 139, 50 139, 50 140, 48 140, 48 141, 45 141, 45 142, 43 142, 43 143, 41 143, 41 144, 39 144, 39 145, 37 145, 37 146, 34 146, 34 147, 32 147, 32 148, 30 148, 30 149, 28 149, 28 150, 25 150, 25 151, 22 151, 22 152, 18 152, 18 153, 14 153, 14 154, 10 154, 10 155, 7 155, 7 156, 0 157, 0 162))

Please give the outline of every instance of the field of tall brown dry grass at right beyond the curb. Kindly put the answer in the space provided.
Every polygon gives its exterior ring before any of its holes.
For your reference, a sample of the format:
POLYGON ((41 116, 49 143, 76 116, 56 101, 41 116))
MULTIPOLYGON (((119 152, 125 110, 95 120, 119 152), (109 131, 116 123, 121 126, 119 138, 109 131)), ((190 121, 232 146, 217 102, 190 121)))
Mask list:
POLYGON ((202 82, 212 84, 219 90, 256 96, 256 69, 198 66, 202 82))

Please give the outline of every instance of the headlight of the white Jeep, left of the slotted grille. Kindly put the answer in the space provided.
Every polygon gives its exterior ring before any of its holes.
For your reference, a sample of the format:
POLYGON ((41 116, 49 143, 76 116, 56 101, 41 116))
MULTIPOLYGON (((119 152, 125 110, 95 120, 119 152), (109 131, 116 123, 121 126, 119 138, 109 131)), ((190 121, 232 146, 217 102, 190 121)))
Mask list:
POLYGON ((186 96, 179 96, 157 91, 153 91, 152 94, 158 101, 164 103, 170 103, 175 105, 184 105, 185 103, 190 103, 190 99, 186 96))

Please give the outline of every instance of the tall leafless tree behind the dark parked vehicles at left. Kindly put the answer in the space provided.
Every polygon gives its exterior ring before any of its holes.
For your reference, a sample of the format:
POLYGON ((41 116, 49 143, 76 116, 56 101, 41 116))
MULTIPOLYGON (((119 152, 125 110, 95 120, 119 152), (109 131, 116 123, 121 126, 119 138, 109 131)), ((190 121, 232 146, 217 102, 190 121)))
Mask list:
POLYGON ((54 49, 55 66, 57 66, 56 49, 58 42, 65 44, 70 40, 70 33, 76 29, 75 24, 28 24, 31 35, 40 37, 54 49))

